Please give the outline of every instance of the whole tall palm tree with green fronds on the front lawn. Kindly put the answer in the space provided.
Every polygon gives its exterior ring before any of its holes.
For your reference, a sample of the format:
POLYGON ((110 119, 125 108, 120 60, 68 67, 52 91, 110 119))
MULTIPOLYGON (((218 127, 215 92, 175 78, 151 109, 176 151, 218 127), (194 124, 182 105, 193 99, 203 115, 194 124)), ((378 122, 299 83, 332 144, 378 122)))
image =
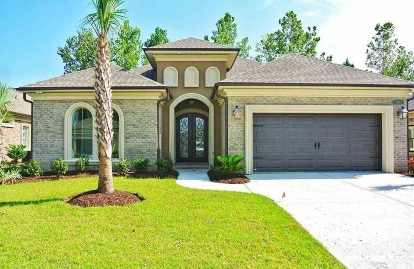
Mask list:
POLYGON ((126 13, 120 9, 123 0, 92 0, 96 12, 86 16, 82 26, 91 25, 98 36, 98 51, 95 62, 95 113, 98 141, 99 180, 98 192, 113 192, 112 181, 112 107, 111 107, 111 52, 108 33, 121 25, 126 13))

